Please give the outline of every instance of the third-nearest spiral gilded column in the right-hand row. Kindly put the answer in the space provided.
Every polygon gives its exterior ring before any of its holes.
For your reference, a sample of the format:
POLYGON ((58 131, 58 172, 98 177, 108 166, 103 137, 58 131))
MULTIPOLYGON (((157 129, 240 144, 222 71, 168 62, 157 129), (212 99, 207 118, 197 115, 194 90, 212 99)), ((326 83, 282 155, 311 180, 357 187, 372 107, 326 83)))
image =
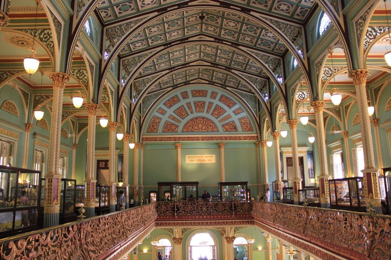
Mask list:
POLYGON ((289 129, 291 129, 291 142, 292 142, 292 160, 294 169, 293 182, 293 196, 294 204, 299 204, 299 190, 301 189, 301 178, 299 169, 299 153, 297 148, 297 119, 291 119, 287 121, 289 129))

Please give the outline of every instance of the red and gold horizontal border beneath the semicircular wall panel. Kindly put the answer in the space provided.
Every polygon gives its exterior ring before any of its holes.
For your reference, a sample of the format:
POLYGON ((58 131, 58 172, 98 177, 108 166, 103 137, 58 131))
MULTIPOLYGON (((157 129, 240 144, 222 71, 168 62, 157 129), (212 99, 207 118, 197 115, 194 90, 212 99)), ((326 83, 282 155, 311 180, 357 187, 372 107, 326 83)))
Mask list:
POLYGON ((216 136, 151 136, 143 137, 142 142, 172 141, 256 141, 258 135, 216 135, 216 136))

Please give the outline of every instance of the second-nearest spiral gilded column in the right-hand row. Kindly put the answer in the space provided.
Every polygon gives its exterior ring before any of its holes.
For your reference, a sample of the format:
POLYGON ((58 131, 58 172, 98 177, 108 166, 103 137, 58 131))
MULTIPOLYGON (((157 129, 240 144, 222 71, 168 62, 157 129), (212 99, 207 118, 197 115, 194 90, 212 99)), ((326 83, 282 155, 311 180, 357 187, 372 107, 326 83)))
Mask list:
POLYGON ((312 102, 312 106, 315 111, 315 120, 317 125, 317 139, 318 139, 318 152, 319 152, 319 166, 320 175, 319 179, 319 190, 320 190, 320 204, 322 208, 330 208, 330 191, 328 187, 328 165, 327 165, 327 150, 326 150, 326 135, 323 123, 323 107, 325 106, 324 101, 312 102))

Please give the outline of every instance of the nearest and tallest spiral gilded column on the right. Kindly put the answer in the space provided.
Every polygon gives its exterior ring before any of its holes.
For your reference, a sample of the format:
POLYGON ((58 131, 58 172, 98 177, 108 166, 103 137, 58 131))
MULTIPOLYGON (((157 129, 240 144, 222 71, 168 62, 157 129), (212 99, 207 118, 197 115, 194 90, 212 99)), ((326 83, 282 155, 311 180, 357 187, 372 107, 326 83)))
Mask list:
POLYGON ((365 199, 368 205, 372 206, 375 213, 382 214, 380 203, 378 169, 375 168, 375 157, 373 154, 371 123, 368 115, 368 100, 366 96, 366 77, 369 75, 368 69, 357 69, 349 74, 356 87, 357 105, 359 107, 360 131, 362 139, 362 149, 364 150, 364 183, 365 199))

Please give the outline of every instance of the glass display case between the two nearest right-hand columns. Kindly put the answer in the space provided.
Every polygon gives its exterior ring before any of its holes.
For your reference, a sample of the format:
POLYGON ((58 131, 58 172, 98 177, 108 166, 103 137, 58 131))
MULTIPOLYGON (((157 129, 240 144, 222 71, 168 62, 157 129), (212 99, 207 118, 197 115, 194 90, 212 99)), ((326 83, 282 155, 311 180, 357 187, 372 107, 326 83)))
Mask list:
POLYGON ((330 208, 366 212, 362 177, 329 180, 330 208))

